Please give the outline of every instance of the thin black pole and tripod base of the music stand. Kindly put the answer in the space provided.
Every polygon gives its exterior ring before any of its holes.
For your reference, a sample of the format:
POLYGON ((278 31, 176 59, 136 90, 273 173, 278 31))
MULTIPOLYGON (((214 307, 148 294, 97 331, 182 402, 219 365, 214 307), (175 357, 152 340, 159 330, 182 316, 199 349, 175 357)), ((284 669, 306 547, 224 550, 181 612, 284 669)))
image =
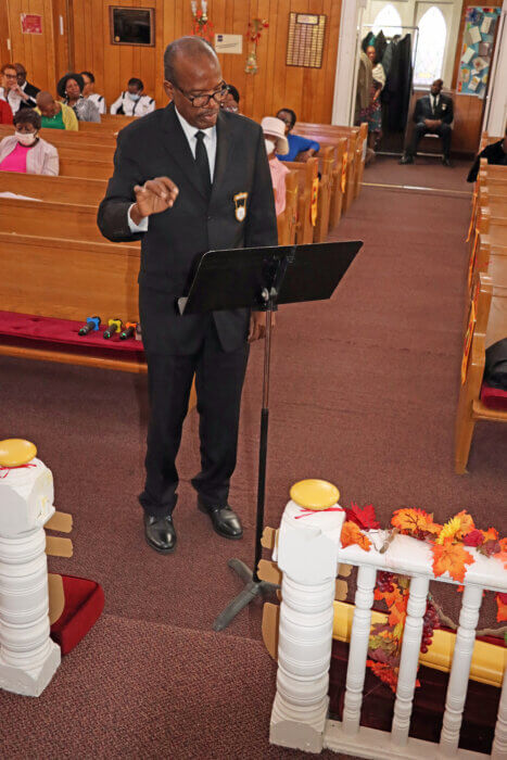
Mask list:
POLYGON ((262 581, 258 578, 257 568, 261 561, 264 531, 264 506, 266 501, 266 464, 267 464, 267 433, 269 426, 269 368, 271 360, 271 328, 272 313, 276 311, 277 291, 271 288, 263 291, 266 301, 266 334, 264 338, 264 379, 263 379, 263 408, 261 410, 261 440, 258 446, 258 481, 257 481, 257 517, 255 527, 255 560, 253 571, 241 559, 229 559, 229 567, 235 570, 246 584, 243 591, 230 601, 227 607, 215 618, 214 631, 223 631, 229 623, 257 596, 263 598, 274 594, 279 587, 275 583, 262 581))

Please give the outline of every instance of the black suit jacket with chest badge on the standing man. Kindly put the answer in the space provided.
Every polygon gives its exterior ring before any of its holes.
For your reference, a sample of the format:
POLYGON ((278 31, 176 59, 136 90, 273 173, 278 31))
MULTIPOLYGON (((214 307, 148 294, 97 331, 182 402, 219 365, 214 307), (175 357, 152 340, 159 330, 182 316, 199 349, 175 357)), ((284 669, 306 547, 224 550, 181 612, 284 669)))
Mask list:
MULTIPOLYGON (((188 292, 200 255, 208 250, 276 245, 271 175, 261 127, 228 112, 217 121, 217 152, 210 201, 201 187, 190 145, 175 106, 154 111, 118 135, 114 175, 98 215, 113 242, 141 239, 139 307, 148 352, 191 354, 199 350, 207 318, 179 316, 177 299, 188 292), (132 235, 128 208, 134 187, 167 176, 179 188, 173 206, 149 217, 148 232, 132 235), (248 193, 245 215, 235 195, 248 193)), ((225 351, 246 339, 250 312, 214 312, 225 351)))

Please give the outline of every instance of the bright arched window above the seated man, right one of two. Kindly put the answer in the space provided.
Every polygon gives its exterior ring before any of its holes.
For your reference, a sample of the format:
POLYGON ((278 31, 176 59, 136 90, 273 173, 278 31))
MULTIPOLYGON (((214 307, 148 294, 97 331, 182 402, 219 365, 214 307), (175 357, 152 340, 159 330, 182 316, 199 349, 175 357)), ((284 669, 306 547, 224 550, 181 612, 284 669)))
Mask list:
POLYGON ((421 17, 417 40, 415 85, 431 85, 442 76, 447 24, 442 11, 432 5, 421 17))

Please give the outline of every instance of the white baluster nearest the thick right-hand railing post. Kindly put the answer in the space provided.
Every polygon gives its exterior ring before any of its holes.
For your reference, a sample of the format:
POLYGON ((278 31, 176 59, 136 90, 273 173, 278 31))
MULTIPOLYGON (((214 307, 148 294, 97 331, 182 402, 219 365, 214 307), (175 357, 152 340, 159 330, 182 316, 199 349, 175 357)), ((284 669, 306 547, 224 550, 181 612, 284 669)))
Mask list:
POLYGON ((376 577, 375 568, 367 565, 359 567, 343 708, 343 731, 350 735, 359 730, 376 577))

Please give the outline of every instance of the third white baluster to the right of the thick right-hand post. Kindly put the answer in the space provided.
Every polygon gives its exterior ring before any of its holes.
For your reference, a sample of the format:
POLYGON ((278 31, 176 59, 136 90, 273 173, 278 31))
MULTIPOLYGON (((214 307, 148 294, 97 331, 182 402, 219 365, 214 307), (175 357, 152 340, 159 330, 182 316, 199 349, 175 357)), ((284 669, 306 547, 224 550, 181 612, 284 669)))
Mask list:
POLYGON ((441 752, 447 757, 456 755, 458 748, 481 603, 481 586, 465 586, 445 700, 444 723, 440 736, 441 752))

